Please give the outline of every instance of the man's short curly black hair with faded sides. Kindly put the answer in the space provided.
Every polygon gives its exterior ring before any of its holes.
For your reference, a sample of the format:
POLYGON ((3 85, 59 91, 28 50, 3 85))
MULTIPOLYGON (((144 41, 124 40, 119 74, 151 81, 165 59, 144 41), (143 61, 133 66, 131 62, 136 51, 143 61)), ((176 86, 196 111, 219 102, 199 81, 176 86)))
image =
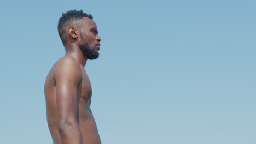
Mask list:
POLYGON ((58 33, 62 43, 66 43, 66 29, 72 22, 78 22, 83 17, 88 17, 92 20, 92 15, 84 13, 83 10, 69 10, 67 13, 62 13, 62 17, 58 23, 58 33))

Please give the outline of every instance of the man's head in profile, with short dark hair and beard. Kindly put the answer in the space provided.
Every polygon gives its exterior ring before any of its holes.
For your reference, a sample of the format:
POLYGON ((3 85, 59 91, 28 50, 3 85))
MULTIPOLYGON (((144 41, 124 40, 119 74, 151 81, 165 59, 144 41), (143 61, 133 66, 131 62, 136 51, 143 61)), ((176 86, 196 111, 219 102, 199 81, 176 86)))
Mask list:
POLYGON ((74 43, 88 59, 98 58, 101 38, 92 15, 82 10, 69 10, 60 17, 58 32, 64 45, 74 43))

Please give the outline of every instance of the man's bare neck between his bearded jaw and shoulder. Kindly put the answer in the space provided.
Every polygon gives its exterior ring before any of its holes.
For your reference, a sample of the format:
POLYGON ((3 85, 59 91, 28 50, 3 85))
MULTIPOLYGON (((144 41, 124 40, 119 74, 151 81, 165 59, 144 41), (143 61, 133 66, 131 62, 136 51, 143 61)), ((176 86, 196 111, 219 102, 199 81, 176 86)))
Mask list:
POLYGON ((80 48, 77 45, 73 44, 67 44, 65 45, 66 55, 65 56, 71 56, 74 57, 80 64, 85 66, 87 62, 87 58, 84 57, 83 52, 80 50, 80 48))

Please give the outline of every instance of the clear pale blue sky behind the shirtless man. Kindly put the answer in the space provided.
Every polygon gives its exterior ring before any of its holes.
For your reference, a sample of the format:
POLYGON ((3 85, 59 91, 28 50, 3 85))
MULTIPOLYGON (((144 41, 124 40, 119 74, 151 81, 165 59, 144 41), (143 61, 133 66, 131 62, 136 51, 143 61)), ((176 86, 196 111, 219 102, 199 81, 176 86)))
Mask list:
POLYGON ((102 143, 255 144, 255 1, 2 1, 0 143, 52 143, 44 80, 57 21, 94 16, 85 69, 102 143))

